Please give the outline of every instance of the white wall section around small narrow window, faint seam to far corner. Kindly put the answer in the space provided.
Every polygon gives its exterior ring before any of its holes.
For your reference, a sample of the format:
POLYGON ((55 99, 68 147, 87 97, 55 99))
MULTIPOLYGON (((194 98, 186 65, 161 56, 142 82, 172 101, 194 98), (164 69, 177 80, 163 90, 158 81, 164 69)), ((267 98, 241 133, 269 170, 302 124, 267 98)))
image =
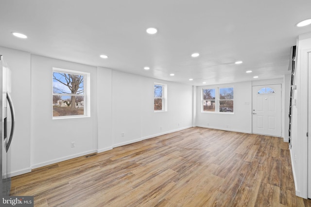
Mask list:
POLYGON ((192 127, 192 86, 156 79, 141 81, 142 139, 192 127), (167 84, 168 111, 154 112, 154 83, 167 84))

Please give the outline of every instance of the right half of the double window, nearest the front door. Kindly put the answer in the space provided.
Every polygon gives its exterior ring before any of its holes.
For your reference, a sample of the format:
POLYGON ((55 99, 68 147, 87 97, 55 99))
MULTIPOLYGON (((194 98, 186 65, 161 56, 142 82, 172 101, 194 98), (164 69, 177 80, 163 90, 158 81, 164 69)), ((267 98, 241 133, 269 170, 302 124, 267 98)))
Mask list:
POLYGON ((233 112, 233 88, 219 88, 219 112, 233 112))

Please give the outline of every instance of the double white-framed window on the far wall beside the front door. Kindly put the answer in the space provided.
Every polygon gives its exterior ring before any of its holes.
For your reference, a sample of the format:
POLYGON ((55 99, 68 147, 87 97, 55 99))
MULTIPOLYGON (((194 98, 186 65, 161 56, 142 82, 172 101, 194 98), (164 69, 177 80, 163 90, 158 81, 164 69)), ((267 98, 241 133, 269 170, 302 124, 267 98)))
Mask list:
POLYGON ((233 87, 202 89, 202 100, 202 112, 233 113, 233 87))

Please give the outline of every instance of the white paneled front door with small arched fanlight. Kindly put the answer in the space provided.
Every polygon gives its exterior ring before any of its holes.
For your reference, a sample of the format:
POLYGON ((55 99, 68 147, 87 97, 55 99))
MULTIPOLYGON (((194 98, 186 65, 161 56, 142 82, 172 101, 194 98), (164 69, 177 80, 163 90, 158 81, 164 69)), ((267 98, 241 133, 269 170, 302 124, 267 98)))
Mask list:
POLYGON ((281 84, 253 86, 253 133, 280 137, 281 84))

